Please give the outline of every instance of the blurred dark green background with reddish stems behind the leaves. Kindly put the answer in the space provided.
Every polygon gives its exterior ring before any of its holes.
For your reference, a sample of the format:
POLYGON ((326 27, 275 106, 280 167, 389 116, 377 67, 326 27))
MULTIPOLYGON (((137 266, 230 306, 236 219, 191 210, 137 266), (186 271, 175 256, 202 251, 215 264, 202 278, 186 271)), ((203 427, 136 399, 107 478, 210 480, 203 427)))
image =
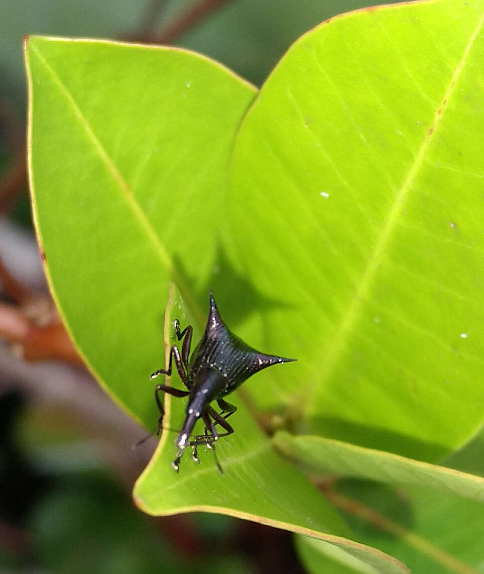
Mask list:
POLYGON ((210 56, 261 86, 297 37, 368 4, 0 2, 0 571, 304 572, 286 532, 217 515, 141 514, 130 490, 155 441, 131 449, 144 431, 82 367, 19 356, 9 321, 26 313, 25 300, 6 282, 18 281, 28 289, 29 303, 41 305, 34 317, 45 317, 48 307, 26 183, 22 38, 171 43, 210 56))

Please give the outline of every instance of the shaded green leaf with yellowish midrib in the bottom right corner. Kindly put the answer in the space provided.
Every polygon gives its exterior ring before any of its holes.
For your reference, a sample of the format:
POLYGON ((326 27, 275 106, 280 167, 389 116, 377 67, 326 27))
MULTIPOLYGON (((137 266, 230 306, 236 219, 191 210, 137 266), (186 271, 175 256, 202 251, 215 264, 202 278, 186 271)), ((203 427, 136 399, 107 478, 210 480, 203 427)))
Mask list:
MULTIPOLYGON (((340 485, 338 485, 340 486, 340 485)), ((342 487, 344 485, 341 485, 342 487)), ((388 505, 387 495, 378 501, 377 489, 358 481, 346 484, 354 493, 348 499, 351 525, 358 540, 388 552, 412 572, 425 574, 478 574, 482 572, 484 513, 482 504, 432 488, 407 487, 399 490, 401 511, 390 518, 375 507, 388 505), (363 506, 361 506, 363 505, 363 506), (369 507, 369 523, 360 519, 358 509, 369 507), (409 521, 410 523, 406 523, 409 521)))

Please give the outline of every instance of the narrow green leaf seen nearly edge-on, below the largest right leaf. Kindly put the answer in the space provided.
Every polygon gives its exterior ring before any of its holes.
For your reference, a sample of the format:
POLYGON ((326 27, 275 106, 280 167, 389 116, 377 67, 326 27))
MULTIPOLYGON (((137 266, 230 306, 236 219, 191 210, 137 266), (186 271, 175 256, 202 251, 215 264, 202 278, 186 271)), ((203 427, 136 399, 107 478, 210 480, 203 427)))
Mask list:
POLYGON ((484 478, 453 468, 320 436, 292 436, 281 431, 273 437, 273 443, 281 453, 302 463, 309 472, 353 476, 396 486, 427 486, 484 502, 484 478))

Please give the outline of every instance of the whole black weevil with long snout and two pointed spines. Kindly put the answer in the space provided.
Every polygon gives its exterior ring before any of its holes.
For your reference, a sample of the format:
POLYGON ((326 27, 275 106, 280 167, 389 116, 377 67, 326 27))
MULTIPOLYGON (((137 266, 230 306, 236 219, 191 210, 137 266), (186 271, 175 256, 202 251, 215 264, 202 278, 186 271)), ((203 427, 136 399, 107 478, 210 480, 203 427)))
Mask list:
MULTIPOLYGON (((183 339, 181 354, 179 348, 173 345, 170 350, 168 369, 155 371, 151 378, 154 379, 158 375, 171 375, 172 361, 175 360, 177 373, 188 389, 184 391, 173 389, 167 385, 157 385, 154 391, 156 404, 160 410, 159 430, 162 428, 165 414, 160 392, 169 393, 175 397, 188 397, 183 427, 175 441, 178 452, 172 463, 173 468, 178 472, 181 456, 187 446, 192 447, 193 460, 199 463, 200 460, 196 451, 199 445, 206 445, 206 447, 214 450, 214 443, 220 436, 231 435, 234 432, 232 426, 227 422, 227 418, 235 413, 237 407, 224 401, 223 397, 232 393, 258 371, 270 367, 272 364, 286 363, 296 359, 266 355, 244 343, 222 321, 212 292, 210 292, 207 326, 202 339, 190 357, 193 333, 191 325, 180 331, 179 321, 176 320, 175 332, 179 341, 183 339), (210 406, 212 401, 217 402, 221 409, 220 413, 210 406), (193 440, 189 440, 193 426, 199 418, 202 418, 205 423, 205 432, 203 435, 195 436, 193 440), (224 432, 217 432, 215 425, 220 425, 224 432)), ((218 462, 217 466, 222 472, 218 462)))

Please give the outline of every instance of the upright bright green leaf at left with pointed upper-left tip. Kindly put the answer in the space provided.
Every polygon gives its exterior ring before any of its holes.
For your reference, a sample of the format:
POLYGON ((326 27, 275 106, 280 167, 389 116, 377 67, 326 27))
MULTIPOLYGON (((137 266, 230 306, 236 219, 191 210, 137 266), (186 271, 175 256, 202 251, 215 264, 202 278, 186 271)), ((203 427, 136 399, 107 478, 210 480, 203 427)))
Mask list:
POLYGON ((52 292, 99 381, 152 426, 147 377, 168 281, 202 323, 196 293, 224 233, 227 162, 255 90, 173 48, 30 37, 26 61, 30 184, 52 292))

